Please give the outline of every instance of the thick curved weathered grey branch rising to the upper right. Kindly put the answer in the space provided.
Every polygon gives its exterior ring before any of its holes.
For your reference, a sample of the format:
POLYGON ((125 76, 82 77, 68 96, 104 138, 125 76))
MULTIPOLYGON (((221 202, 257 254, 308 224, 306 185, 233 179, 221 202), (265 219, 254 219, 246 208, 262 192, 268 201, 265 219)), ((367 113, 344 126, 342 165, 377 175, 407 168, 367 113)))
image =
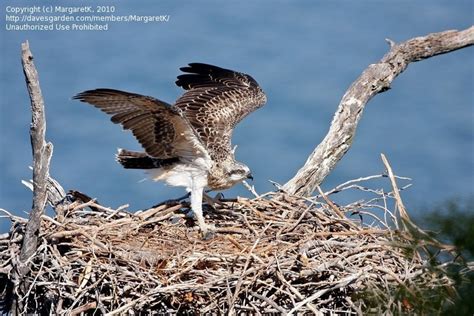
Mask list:
POLYGON ((352 83, 339 103, 328 134, 304 166, 283 186, 284 191, 300 196, 311 195, 351 147, 367 102, 389 89, 392 81, 409 63, 473 45, 474 27, 433 33, 400 44, 387 41, 390 51, 352 83))

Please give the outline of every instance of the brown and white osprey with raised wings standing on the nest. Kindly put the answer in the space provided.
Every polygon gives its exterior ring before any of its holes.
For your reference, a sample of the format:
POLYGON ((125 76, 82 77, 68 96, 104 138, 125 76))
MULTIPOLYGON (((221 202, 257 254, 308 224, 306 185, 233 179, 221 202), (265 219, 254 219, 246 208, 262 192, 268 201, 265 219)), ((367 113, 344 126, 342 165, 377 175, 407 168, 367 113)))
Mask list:
POLYGON ((155 181, 183 186, 203 237, 212 227, 202 214, 205 188, 228 189, 247 178, 250 169, 235 160, 234 127, 263 106, 265 93, 249 75, 212 65, 180 68, 176 85, 186 92, 174 105, 149 96, 113 90, 88 90, 74 96, 112 115, 112 122, 131 130, 145 152, 119 149, 124 168, 148 169, 155 181))

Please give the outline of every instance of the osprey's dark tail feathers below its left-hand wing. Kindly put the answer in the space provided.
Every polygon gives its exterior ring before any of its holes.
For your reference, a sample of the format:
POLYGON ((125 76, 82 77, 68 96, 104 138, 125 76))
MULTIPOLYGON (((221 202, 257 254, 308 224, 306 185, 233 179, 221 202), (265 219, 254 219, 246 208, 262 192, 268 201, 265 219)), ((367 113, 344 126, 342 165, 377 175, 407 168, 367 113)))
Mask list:
POLYGON ((179 158, 158 159, 148 156, 144 152, 130 151, 119 148, 115 158, 125 169, 156 169, 170 166, 178 162, 179 158))

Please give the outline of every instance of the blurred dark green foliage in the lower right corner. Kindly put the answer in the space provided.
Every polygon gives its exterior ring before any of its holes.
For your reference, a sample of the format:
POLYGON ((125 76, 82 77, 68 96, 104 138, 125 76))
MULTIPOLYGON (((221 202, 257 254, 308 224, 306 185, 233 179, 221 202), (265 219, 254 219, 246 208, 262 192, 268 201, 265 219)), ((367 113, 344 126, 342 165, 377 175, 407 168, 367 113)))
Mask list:
POLYGON ((435 275, 437 282, 427 283, 419 275, 390 288, 387 284, 371 287, 352 297, 363 301, 364 314, 474 314, 474 198, 452 199, 422 214, 417 222, 431 232, 409 229, 413 241, 396 247, 407 258, 422 254, 426 273, 435 275), (454 251, 446 247, 449 245, 454 251))

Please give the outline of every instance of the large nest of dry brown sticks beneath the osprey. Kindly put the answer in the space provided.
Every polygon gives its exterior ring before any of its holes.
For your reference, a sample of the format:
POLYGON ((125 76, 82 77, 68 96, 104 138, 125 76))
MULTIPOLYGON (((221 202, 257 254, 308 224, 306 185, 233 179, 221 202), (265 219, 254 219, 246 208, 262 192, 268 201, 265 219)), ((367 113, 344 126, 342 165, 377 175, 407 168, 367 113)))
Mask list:
POLYGON ((385 220, 365 213, 368 204, 341 207, 326 195, 214 201, 205 208, 217 230, 210 240, 184 201, 131 213, 76 199, 61 215, 43 215, 23 297, 11 289, 26 219, 11 216, 0 239, 0 276, 25 313, 409 312, 410 293, 451 280, 427 273, 423 256, 409 251, 408 231, 389 228, 387 221, 397 225, 386 208, 390 196, 383 193, 385 220), (405 295, 394 299, 400 288, 405 295), (367 297, 384 304, 371 310, 367 297))

